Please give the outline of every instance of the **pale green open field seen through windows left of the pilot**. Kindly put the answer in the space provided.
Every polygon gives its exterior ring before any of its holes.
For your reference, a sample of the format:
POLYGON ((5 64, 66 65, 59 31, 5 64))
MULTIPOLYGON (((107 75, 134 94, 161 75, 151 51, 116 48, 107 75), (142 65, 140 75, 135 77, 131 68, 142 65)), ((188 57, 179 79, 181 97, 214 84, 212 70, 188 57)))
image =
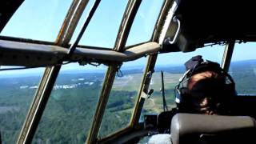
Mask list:
MULTIPOLYGON (((166 102, 170 108, 175 106, 174 105, 174 86, 178 84, 178 79, 181 76, 182 74, 164 73, 166 102)), ((113 90, 117 90, 117 91, 138 90, 141 82, 142 82, 142 74, 128 74, 122 78, 115 79, 113 90)), ((161 73, 155 72, 150 82, 150 89, 154 89, 154 93, 149 99, 146 99, 144 104, 144 110, 146 110, 147 112, 155 112, 155 113, 159 113, 162 111, 162 92, 160 91, 161 88, 162 88, 161 73)), ((131 110, 132 108, 130 109, 130 111, 131 110)))

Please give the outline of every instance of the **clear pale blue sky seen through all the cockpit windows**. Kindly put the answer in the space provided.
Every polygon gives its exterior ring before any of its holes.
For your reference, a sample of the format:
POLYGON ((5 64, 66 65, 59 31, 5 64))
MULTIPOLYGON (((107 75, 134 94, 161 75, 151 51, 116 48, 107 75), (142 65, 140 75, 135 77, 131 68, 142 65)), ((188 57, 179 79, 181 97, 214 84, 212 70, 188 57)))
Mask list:
MULTIPOLYGON (((72 0, 26 0, 18 8, 0 35, 54 42, 71 2, 72 0)), ((93 2, 90 0, 88 6, 86 6, 86 10, 78 22, 77 29, 74 31, 71 43, 74 42, 78 35, 93 2)), ((127 0, 102 0, 79 44, 113 48, 127 2, 127 0)), ((126 46, 150 40, 162 2, 163 0, 142 1, 130 30, 126 46)), ((254 51, 256 50, 253 49, 254 46, 256 45, 250 42, 236 45, 232 61, 254 59, 254 51), (245 47, 247 50, 244 50, 245 47)), ((157 65, 181 65, 192 56, 198 54, 202 54, 204 58, 211 61, 221 62, 223 48, 224 46, 208 46, 206 49, 198 49, 192 53, 159 54, 157 65)), ((146 58, 139 58, 134 62, 125 62, 123 67, 142 65, 146 65, 146 58)), ((106 66, 78 67, 78 64, 70 64, 62 66, 62 70, 106 70, 106 66)), ((24 74, 28 71, 40 71, 42 73, 43 69, 21 71, 24 74)), ((20 73, 21 71, 0 71, 0 76, 20 73)))

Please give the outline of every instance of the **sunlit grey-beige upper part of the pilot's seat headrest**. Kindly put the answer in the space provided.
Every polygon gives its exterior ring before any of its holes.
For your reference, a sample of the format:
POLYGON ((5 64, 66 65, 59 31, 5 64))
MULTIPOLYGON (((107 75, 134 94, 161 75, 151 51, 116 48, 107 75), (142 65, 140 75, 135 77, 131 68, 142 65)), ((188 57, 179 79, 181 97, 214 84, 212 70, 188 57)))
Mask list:
MULTIPOLYGON (((173 144, 190 134, 219 134, 256 128, 256 121, 249 116, 222 116, 204 114, 175 114, 171 121, 170 134, 173 144)), ((182 143, 182 142, 181 142, 182 143)))

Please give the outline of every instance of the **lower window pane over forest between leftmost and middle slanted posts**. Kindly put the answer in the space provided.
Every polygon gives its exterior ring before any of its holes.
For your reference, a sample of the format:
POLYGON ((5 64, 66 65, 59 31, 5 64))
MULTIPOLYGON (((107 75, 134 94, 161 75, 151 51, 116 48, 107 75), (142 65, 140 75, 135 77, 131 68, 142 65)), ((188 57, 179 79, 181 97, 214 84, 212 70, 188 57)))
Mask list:
POLYGON ((86 142, 105 72, 106 66, 62 66, 33 142, 86 142))

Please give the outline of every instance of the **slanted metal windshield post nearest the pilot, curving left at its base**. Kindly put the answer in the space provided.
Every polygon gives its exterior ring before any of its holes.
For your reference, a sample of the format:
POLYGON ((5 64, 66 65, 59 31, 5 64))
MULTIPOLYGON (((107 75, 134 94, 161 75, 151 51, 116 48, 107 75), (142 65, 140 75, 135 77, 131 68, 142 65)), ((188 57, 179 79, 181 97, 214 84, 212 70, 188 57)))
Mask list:
MULTIPOLYGON (((165 15, 166 15, 166 13, 168 13, 168 10, 170 9, 171 2, 173 2, 173 1, 166 0, 165 2, 163 2, 162 10, 158 16, 158 21, 156 22, 156 24, 154 26, 154 32, 152 34, 152 38, 151 38, 150 42, 158 42, 158 38, 160 36, 160 32, 161 32, 162 26, 164 24, 164 19, 166 18, 165 15)), ((118 33, 118 35, 122 35, 119 33, 118 33)), ((117 41, 118 41, 118 39, 117 39, 117 41)), ((118 42, 116 42, 116 43, 118 43, 118 42)), ((125 44, 122 44, 122 45, 119 44, 119 46, 125 46, 125 44)), ((142 95, 142 92, 147 91, 149 88, 150 78, 146 78, 146 77, 147 77, 147 74, 149 71, 152 71, 152 72, 154 71, 154 65, 155 65, 157 57, 158 57, 158 53, 150 54, 148 56, 146 68, 145 68, 143 76, 142 76, 141 86, 138 90, 138 97, 135 102, 132 116, 130 118, 129 126, 127 126, 126 128, 123 128, 122 130, 118 130, 114 134, 110 134, 105 138, 99 139, 98 142, 101 142, 101 143, 112 142, 114 140, 114 138, 122 137, 123 135, 126 135, 126 134, 130 133, 131 131, 134 131, 134 130, 136 131, 137 129, 141 128, 141 126, 139 126, 138 120, 140 118, 140 115, 142 112, 142 107, 143 107, 144 100, 145 100, 144 98, 141 97, 141 95, 142 95)))

